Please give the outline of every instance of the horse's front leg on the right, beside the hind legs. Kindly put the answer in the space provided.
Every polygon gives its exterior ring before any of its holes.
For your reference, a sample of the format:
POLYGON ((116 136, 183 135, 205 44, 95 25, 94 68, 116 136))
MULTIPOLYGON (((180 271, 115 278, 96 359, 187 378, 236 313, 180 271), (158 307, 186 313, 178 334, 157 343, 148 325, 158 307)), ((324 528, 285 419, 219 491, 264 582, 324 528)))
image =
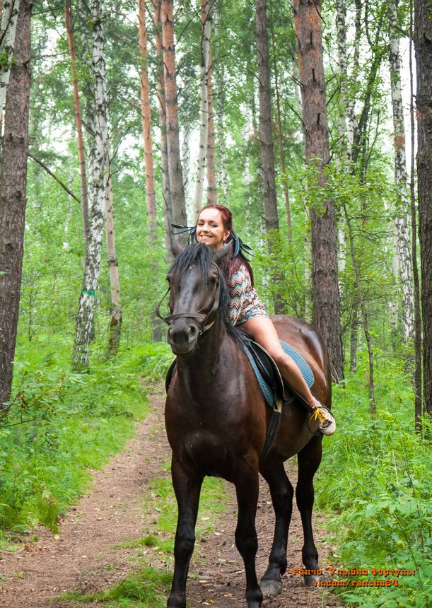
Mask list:
POLYGON ((246 572, 246 600, 247 608, 260 608, 262 592, 257 580, 255 557, 258 550, 257 530, 255 529, 255 516, 259 493, 258 467, 244 461, 239 467, 238 479, 235 481, 237 493, 238 518, 235 530, 235 544, 243 557, 246 572))

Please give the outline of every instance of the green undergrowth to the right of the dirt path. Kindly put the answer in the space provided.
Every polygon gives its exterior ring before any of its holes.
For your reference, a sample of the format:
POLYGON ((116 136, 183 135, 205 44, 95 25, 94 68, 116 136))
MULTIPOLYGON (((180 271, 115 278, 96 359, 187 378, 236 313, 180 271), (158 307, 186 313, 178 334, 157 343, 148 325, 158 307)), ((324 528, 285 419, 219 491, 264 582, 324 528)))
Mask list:
POLYGON ((397 586, 358 586, 345 593, 339 587, 346 602, 420 607, 432 600, 430 446, 413 433, 414 396, 402 365, 383 354, 378 361, 375 421, 368 413, 366 361, 335 387, 339 426, 325 440, 316 508, 333 513, 327 527, 339 547, 338 568, 366 568, 363 580, 373 578, 372 568, 414 570, 386 577, 397 578, 397 586))

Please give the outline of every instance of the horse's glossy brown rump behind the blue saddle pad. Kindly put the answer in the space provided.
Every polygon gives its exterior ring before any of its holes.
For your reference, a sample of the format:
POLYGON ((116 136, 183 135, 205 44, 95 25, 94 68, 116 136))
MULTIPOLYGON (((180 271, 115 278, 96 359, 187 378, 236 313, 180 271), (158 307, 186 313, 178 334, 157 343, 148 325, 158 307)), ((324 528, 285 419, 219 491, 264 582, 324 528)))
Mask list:
POLYGON ((279 339, 293 346, 313 371, 313 393, 320 401, 329 405, 332 382, 329 355, 324 340, 315 327, 306 321, 288 315, 274 315, 271 318, 279 339))

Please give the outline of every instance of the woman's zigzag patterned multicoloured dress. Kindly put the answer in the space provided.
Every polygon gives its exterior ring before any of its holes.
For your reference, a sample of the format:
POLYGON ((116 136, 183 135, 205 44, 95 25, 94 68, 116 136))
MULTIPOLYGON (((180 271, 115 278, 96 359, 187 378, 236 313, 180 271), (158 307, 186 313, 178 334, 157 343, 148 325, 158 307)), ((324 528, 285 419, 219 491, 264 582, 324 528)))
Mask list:
POLYGON ((233 270, 226 281, 230 294, 228 324, 240 325, 252 317, 268 317, 264 304, 252 287, 250 274, 245 264, 233 270))

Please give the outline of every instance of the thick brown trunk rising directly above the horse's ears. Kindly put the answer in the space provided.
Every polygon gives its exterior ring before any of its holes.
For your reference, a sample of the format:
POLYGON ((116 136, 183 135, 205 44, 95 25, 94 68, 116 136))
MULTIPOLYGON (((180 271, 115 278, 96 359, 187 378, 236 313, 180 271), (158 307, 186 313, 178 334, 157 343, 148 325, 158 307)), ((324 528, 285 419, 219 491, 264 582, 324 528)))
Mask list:
MULTIPOLYGON (((183 189, 182 163, 180 160, 177 83, 175 81, 173 0, 162 0, 160 21, 162 22, 168 172, 170 176, 173 221, 180 226, 185 226, 187 219, 185 190, 183 189)), ((177 240, 185 243, 187 237, 183 235, 182 237, 177 237, 177 240)))

